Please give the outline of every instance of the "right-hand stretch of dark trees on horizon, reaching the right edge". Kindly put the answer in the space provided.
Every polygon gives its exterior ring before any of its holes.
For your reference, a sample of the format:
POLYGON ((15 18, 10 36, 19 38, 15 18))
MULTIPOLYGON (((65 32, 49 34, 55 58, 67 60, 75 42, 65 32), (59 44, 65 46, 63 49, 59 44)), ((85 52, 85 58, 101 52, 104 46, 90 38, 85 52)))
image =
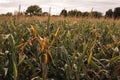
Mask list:
MULTIPOLYGON (((103 15, 101 12, 98 11, 91 11, 91 12, 81 12, 78 10, 71 10, 68 11, 66 9, 63 9, 60 13, 60 16, 72 16, 72 17, 94 17, 94 18, 101 18, 103 15)), ((109 9, 106 11, 105 18, 114 18, 114 19, 119 19, 120 18, 120 7, 116 7, 114 11, 112 9, 109 9)))

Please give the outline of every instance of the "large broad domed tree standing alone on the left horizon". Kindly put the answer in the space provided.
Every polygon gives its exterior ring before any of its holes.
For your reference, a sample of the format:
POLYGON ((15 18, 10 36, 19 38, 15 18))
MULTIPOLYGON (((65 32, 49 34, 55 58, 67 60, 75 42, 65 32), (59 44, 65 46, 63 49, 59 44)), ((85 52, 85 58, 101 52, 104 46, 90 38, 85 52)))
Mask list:
POLYGON ((38 5, 31 5, 26 10, 27 15, 41 15, 42 14, 42 8, 40 8, 38 5))

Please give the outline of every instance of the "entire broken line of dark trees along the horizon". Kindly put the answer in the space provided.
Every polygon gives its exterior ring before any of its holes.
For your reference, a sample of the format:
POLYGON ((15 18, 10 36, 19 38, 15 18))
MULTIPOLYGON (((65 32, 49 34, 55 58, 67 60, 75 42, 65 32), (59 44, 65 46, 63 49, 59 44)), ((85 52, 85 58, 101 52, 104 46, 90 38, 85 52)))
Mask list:
MULTIPOLYGON (((12 13, 6 13, 5 15, 10 16, 12 13)), ((19 12, 18 15, 27 15, 27 16, 48 16, 48 12, 42 12, 42 8, 40 8, 38 5, 31 5, 29 6, 25 12, 19 12)), ((106 11, 105 16, 102 15, 101 12, 98 11, 91 11, 91 12, 81 12, 77 9, 67 11, 66 9, 63 9, 60 12, 60 15, 63 17, 93 17, 93 18, 120 18, 120 7, 116 7, 114 11, 112 9, 109 9, 106 11)))

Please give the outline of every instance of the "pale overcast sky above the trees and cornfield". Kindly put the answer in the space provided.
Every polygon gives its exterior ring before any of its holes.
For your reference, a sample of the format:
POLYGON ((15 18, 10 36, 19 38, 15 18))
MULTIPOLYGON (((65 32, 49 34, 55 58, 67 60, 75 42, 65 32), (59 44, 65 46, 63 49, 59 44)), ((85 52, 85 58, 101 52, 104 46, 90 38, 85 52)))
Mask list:
POLYGON ((59 14, 62 9, 77 9, 84 11, 100 11, 105 13, 108 9, 120 7, 120 0, 0 0, 0 13, 18 11, 21 5, 21 11, 25 11, 30 5, 39 5, 42 11, 49 11, 51 7, 52 14, 59 14))

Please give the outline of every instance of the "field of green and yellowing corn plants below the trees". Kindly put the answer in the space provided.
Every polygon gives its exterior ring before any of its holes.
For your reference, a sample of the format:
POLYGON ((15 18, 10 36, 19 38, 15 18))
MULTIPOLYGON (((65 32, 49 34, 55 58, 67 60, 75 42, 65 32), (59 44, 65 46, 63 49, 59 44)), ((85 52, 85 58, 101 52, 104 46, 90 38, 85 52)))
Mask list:
POLYGON ((119 79, 120 20, 9 19, 0 21, 0 79, 119 79))

